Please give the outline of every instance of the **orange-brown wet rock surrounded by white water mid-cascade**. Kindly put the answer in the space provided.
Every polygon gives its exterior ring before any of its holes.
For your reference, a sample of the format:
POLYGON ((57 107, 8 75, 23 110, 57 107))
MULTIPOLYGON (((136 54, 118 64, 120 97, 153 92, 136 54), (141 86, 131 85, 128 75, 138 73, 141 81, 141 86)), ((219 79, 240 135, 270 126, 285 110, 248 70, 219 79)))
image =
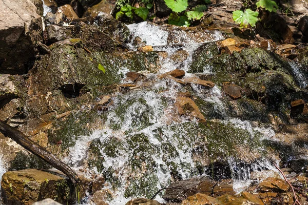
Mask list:
POLYGON ((178 97, 175 105, 180 115, 196 117, 200 122, 206 121, 203 114, 199 111, 198 106, 192 99, 188 97, 178 97))

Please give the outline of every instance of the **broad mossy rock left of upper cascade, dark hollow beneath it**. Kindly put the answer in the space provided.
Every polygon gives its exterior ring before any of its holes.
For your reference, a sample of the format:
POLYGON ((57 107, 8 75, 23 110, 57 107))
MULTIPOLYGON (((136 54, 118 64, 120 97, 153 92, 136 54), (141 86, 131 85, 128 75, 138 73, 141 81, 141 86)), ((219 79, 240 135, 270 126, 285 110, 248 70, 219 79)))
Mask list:
POLYGON ((119 83, 126 70, 151 71, 157 67, 156 52, 124 52, 88 54, 83 48, 71 45, 60 45, 36 61, 31 70, 33 76, 33 91, 47 93, 61 90, 70 85, 76 89, 93 91, 98 86, 108 86, 119 83), (99 69, 103 66, 104 71, 99 69), (124 72, 124 73, 123 73, 124 72), (40 86, 35 86, 40 85, 40 86))

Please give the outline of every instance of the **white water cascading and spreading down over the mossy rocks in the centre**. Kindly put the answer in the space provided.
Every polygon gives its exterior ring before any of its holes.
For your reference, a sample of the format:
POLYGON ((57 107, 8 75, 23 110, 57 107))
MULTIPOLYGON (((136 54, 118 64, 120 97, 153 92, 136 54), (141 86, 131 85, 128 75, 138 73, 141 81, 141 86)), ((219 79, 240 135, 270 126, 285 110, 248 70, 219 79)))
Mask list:
MULTIPOLYGON (((180 66, 170 59, 179 48, 188 53, 181 62, 181 69, 187 71, 192 53, 201 45, 188 36, 178 40, 178 46, 174 45, 168 42, 167 31, 146 22, 132 24, 128 28, 133 36, 141 37, 154 50, 167 53, 168 57, 160 59, 158 73, 180 66)), ((216 31, 208 39, 221 40, 223 36, 216 31)), ((125 74, 128 69, 120 71, 125 74)), ((204 89, 195 84, 185 87, 171 79, 160 79, 157 74, 144 75, 148 80, 138 82, 136 89, 113 95, 109 111, 101 113, 105 119, 104 128, 93 131, 90 136, 79 136, 65 159, 75 168, 84 165, 87 160, 91 172, 104 175, 108 183, 106 189, 113 190, 109 204, 124 204, 133 197, 150 198, 174 180, 206 176, 205 165, 220 156, 227 155, 237 191, 250 182, 251 171, 273 169, 268 160, 262 159, 264 150, 260 141, 271 138, 274 131, 229 117, 219 87, 204 89), (197 119, 178 116, 174 103, 178 93, 185 91, 191 92, 196 101, 200 98, 213 105, 219 119, 198 124, 197 119), (233 147, 230 147, 231 144, 233 147), (242 145, 259 160, 249 166, 243 165, 242 153, 238 155, 235 152, 242 145)), ((186 73, 187 76, 195 74, 186 73)), ((160 195, 156 199, 162 201, 160 195)))

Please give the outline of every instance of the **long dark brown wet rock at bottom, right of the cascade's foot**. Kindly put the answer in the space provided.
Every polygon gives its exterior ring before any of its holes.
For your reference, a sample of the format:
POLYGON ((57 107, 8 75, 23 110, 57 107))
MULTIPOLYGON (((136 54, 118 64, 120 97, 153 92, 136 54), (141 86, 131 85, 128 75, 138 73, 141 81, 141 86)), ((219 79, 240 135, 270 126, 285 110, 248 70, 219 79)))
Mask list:
MULTIPOLYGON (((232 180, 221 180, 217 182, 206 178, 190 178, 173 182, 169 187, 181 188, 166 190, 165 194, 163 195, 163 198, 166 201, 172 202, 180 202, 189 196, 195 195, 196 192, 199 192, 200 194, 213 195, 213 197, 222 196, 224 194, 235 194, 235 192, 233 191, 232 180), (193 190, 196 190, 196 192, 193 190)), ((200 197, 202 196, 203 195, 201 195, 200 197)), ((193 198, 195 197, 192 197, 192 199, 193 198)))

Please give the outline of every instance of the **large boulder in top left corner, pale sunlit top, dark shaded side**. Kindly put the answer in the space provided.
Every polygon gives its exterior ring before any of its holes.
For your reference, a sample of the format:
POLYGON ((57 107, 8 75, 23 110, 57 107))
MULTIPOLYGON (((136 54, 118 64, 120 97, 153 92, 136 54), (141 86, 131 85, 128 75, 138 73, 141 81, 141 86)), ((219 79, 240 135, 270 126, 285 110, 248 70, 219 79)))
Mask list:
POLYGON ((3 0, 0 9, 0 71, 26 73, 35 55, 29 27, 40 15, 31 0, 3 0))

